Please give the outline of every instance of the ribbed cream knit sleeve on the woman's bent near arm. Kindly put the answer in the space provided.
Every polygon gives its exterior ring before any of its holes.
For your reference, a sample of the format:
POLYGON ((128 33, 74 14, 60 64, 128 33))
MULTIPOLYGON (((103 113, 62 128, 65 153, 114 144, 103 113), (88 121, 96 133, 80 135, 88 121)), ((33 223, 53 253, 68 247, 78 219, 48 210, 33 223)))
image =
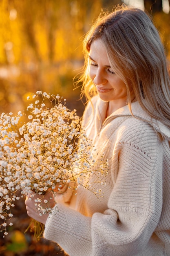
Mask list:
POLYGON ((44 237, 70 256, 133 256, 146 247, 157 227, 162 207, 161 144, 155 133, 150 136, 144 130, 142 137, 122 132, 113 152, 111 168, 116 158, 119 166, 108 209, 86 217, 59 203, 46 222, 44 237))

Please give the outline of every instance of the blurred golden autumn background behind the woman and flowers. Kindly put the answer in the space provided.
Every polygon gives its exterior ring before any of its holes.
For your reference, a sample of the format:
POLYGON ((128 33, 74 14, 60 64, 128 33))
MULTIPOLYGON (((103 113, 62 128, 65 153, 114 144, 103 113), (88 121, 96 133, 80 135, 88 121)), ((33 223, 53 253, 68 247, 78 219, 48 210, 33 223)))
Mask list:
MULTIPOLYGON (((81 85, 73 85, 84 65, 82 40, 102 8, 111 11, 121 2, 152 15, 169 60, 170 0, 0 0, 0 113, 26 109, 27 96, 42 90, 66 98, 82 115, 81 85)), ((30 222, 24 199, 14 211, 9 236, 0 233, 0 255, 64 255, 57 245, 24 234, 30 222)))

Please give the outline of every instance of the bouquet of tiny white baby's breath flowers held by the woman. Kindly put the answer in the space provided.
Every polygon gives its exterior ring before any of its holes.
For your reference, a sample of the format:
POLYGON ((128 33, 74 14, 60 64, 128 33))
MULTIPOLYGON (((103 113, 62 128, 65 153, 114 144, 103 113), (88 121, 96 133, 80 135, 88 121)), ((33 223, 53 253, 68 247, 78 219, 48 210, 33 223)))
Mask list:
MULTIPOLYGON (((76 110, 68 110, 59 95, 38 91, 32 98, 28 122, 22 126, 20 119, 26 118, 22 112, 0 117, 0 218, 4 221, 0 227, 4 235, 13 217, 11 207, 20 199, 17 191, 42 195, 49 190, 55 193, 57 185, 58 192, 63 186, 73 190, 83 186, 101 194, 91 184, 91 175, 99 178, 107 173, 108 162, 95 161, 94 147, 81 130, 76 110)), ((42 214, 51 211, 48 202, 41 203, 35 206, 42 214)))

